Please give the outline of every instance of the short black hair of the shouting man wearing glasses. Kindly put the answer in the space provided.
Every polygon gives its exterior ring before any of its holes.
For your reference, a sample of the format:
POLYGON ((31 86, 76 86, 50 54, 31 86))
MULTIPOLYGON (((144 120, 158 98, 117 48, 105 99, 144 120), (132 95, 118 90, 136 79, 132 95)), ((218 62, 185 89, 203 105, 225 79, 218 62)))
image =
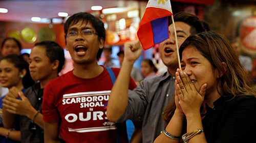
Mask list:
MULTIPOLYGON (((103 43, 105 42, 106 31, 104 28, 104 23, 99 18, 87 12, 79 12, 73 14, 67 19, 64 24, 65 39, 67 38, 69 27, 73 24, 78 23, 79 21, 91 23, 98 35, 98 40, 100 41, 100 39, 103 38, 103 43)), ((98 50, 97 59, 100 58, 102 51, 103 49, 98 50)))

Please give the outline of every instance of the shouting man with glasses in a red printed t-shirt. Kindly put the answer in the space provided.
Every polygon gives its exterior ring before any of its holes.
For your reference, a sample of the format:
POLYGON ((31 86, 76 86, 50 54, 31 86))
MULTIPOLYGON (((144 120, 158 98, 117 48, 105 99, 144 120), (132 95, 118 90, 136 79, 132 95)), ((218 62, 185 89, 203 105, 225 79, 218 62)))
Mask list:
MULTIPOLYGON (((58 142, 59 135, 66 142, 127 142, 125 128, 106 118, 113 83, 111 72, 97 64, 105 41, 103 22, 76 13, 64 30, 74 69, 51 80, 44 90, 45 142, 58 142)), ((111 71, 119 73, 117 68, 111 71)), ((135 87, 131 79, 129 89, 135 87)))

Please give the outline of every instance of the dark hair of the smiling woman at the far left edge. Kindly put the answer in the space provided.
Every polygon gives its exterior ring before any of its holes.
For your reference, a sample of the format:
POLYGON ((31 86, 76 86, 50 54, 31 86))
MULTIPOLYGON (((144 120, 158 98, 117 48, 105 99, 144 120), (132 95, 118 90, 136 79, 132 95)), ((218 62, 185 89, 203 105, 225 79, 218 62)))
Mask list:
POLYGON ((25 69, 27 73, 24 75, 22 84, 25 89, 31 87, 33 84, 35 84, 35 81, 30 76, 29 72, 29 64, 23 59, 21 55, 17 54, 8 54, 7 56, 4 56, 2 60, 6 60, 14 65, 18 69, 18 71, 22 71, 25 69))

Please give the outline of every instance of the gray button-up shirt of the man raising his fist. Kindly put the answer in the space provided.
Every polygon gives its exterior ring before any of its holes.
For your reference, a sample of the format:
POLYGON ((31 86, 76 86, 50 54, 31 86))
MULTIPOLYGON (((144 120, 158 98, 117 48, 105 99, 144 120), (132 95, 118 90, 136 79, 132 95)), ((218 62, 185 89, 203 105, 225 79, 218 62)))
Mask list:
POLYGON ((154 142, 164 128, 162 112, 170 100, 174 100, 174 86, 175 76, 168 72, 145 78, 136 89, 129 91, 128 106, 118 122, 142 121, 143 142, 154 142))

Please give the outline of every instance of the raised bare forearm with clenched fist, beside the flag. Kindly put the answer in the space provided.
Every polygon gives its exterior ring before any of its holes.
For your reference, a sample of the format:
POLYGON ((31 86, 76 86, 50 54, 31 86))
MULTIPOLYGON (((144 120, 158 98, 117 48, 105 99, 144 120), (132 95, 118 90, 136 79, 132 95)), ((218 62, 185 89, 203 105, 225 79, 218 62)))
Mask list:
POLYGON ((124 113, 128 104, 128 89, 131 71, 134 62, 142 53, 140 42, 127 42, 124 44, 124 60, 121 70, 111 90, 106 116, 108 120, 116 122, 124 113))

